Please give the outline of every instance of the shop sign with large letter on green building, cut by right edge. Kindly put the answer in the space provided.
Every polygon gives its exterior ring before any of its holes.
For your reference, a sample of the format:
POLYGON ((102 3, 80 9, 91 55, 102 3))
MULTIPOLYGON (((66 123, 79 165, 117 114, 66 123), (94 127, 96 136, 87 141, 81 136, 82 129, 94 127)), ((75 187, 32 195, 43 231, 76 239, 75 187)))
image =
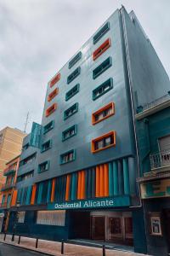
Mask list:
POLYGON ((141 183, 142 199, 170 196, 170 178, 141 183))

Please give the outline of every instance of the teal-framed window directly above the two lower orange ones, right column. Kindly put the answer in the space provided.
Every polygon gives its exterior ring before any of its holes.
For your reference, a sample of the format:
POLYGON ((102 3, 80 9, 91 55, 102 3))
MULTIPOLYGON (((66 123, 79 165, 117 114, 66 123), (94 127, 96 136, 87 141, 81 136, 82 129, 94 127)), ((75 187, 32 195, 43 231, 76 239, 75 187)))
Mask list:
POLYGON ((93 90, 93 100, 95 101, 100 96, 104 95, 106 92, 113 88, 113 79, 108 79, 103 84, 100 84, 99 87, 93 90))

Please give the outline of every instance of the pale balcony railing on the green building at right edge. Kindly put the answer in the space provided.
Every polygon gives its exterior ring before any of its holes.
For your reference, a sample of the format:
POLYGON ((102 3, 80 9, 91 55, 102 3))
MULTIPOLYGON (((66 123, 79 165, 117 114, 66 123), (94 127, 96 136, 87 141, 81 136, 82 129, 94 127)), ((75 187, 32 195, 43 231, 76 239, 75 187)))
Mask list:
POLYGON ((170 166, 170 148, 156 154, 150 154, 151 169, 170 166))

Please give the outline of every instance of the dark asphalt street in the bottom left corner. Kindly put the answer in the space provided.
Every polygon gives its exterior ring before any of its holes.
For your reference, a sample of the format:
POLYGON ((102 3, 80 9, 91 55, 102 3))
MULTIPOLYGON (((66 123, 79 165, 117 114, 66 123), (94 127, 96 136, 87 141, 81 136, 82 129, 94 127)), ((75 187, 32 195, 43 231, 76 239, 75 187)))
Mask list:
POLYGON ((0 242, 0 256, 40 256, 42 253, 29 252, 23 248, 13 247, 0 242))

